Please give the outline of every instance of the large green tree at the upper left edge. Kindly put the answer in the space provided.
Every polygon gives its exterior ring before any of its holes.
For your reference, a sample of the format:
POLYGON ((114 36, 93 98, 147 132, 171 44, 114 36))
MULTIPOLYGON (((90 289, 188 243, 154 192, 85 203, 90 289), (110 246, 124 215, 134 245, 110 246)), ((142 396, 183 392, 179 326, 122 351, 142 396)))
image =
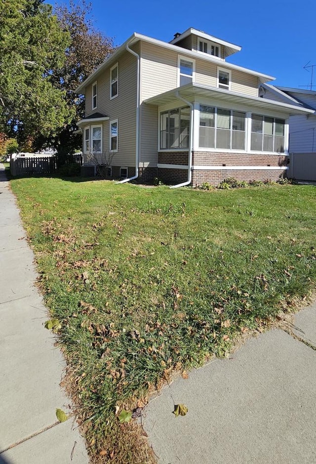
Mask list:
POLYGON ((52 136, 71 120, 65 91, 52 84, 69 33, 44 0, 1 0, 0 129, 19 143, 52 136))

